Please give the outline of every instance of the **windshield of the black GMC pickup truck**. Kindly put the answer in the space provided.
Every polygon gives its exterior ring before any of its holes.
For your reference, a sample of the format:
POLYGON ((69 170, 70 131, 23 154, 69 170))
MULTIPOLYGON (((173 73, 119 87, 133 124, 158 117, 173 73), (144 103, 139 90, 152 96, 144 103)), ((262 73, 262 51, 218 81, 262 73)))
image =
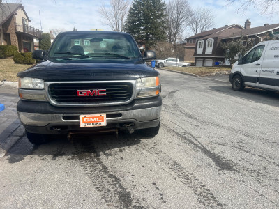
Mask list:
POLYGON ((48 58, 56 61, 108 61, 140 58, 133 38, 126 33, 61 33, 48 58))

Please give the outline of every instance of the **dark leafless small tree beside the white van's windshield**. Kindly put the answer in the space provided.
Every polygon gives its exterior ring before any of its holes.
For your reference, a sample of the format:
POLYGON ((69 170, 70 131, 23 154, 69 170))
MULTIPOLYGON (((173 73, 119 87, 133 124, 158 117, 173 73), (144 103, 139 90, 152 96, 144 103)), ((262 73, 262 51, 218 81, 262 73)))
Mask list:
POLYGON ((224 50, 225 59, 227 59, 232 66, 237 60, 237 54, 245 54, 254 42, 254 38, 241 37, 237 40, 230 40, 229 42, 222 43, 221 48, 224 50))

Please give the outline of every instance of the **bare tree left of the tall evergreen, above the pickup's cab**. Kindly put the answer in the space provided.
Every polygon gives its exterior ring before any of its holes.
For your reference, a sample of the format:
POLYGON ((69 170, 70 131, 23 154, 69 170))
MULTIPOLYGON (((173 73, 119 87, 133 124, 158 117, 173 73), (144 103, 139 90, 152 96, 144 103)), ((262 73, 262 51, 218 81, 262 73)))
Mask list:
POLYGON ((123 31, 129 7, 129 0, 110 0, 110 7, 103 4, 99 9, 99 13, 105 19, 103 23, 110 26, 112 31, 123 31))

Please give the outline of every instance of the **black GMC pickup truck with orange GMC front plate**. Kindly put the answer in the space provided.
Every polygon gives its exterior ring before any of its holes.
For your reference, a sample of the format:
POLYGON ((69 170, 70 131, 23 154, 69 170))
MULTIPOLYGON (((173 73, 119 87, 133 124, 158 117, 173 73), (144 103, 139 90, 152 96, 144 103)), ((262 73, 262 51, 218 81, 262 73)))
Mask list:
POLYGON ((159 73, 146 64, 128 33, 59 33, 50 50, 36 50, 37 65, 19 72, 17 114, 27 137, 41 144, 53 134, 160 128, 159 73))

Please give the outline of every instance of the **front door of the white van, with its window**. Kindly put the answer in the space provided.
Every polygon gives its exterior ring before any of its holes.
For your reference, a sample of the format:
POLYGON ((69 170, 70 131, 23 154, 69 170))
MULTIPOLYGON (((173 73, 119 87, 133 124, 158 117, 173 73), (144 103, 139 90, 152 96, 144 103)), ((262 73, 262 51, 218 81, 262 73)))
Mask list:
POLYGON ((243 56, 241 73, 246 86, 257 86, 259 73, 262 68, 262 52, 264 45, 253 48, 248 54, 243 56))

